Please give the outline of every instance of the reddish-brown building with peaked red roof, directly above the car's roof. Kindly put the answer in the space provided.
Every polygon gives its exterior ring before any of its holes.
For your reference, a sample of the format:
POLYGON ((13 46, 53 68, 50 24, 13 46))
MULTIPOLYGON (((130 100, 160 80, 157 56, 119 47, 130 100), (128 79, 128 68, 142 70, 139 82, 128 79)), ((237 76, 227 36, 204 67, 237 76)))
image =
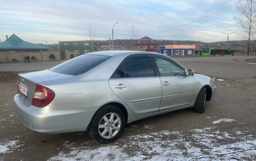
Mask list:
POLYGON ((135 43, 135 50, 143 52, 157 52, 160 47, 160 43, 157 40, 153 40, 148 36, 144 36, 135 43))

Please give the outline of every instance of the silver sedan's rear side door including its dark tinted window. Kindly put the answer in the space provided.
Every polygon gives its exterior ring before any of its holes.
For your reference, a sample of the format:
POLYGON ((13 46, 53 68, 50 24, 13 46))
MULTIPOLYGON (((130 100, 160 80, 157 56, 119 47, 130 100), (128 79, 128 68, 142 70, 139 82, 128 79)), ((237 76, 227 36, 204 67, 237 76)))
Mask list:
POLYGON ((149 54, 127 57, 113 73, 109 86, 131 108, 135 116, 159 111, 161 81, 149 54))

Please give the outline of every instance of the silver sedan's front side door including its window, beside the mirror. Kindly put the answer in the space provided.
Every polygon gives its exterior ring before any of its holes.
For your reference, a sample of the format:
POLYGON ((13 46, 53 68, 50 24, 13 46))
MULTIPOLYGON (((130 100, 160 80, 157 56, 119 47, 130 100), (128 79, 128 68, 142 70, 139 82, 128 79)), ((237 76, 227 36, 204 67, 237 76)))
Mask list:
POLYGON ((186 76, 185 69, 172 59, 153 56, 153 60, 162 84, 159 111, 191 105, 196 90, 194 77, 186 76))

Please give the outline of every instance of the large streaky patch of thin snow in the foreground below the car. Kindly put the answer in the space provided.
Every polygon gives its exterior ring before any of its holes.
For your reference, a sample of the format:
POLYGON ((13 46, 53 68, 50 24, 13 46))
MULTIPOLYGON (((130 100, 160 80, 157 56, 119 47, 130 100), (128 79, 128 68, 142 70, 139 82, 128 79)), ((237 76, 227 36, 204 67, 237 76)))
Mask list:
MULTIPOLYGON (((231 121, 231 120, 229 120, 231 121)), ((68 153, 49 160, 250 160, 256 157, 256 139, 244 131, 216 131, 216 126, 189 131, 164 130, 128 136, 112 144, 94 141, 75 145, 65 141, 68 153), (125 144, 124 144, 125 142, 125 144), (94 146, 89 147, 91 144, 94 146)))

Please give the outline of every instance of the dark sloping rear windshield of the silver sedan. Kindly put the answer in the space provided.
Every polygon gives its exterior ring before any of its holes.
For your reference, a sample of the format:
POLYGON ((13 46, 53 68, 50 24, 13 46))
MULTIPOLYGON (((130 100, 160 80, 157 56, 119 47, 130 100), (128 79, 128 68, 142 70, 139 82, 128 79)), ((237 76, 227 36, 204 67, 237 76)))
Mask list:
POLYGON ((76 58, 72 58, 69 61, 61 63, 49 71, 62 73, 65 75, 80 75, 92 68, 98 66, 100 63, 106 61, 111 57, 109 56, 97 56, 97 55, 82 55, 76 58))

